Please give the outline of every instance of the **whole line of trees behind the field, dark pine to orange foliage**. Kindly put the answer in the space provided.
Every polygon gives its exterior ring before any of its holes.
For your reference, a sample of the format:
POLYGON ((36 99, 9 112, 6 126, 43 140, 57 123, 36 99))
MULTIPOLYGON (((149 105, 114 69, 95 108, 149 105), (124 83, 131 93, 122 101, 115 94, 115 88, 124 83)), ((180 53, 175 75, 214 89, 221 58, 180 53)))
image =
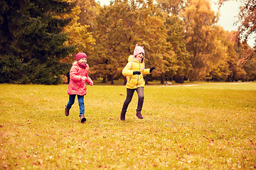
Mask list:
POLYGON ((208 0, 115 0, 108 6, 4 0, 0 6, 0 83, 61 84, 75 54, 85 52, 90 77, 114 84, 124 79, 136 44, 144 46, 146 67, 156 67, 146 82, 256 79, 256 46, 246 42, 255 32, 251 0, 232 32, 217 25, 219 14, 208 0))

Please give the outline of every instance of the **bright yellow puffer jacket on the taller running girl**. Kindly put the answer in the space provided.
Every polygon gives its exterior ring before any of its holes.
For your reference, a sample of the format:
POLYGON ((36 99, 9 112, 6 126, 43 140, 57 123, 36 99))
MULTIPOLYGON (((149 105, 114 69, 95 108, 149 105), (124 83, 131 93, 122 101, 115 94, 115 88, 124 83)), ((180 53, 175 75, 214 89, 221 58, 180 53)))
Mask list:
POLYGON ((138 60, 133 60, 133 55, 128 58, 128 63, 122 70, 122 74, 127 77, 127 89, 137 89, 138 87, 144 86, 145 81, 143 79, 143 74, 150 74, 149 69, 143 69, 143 62, 139 63, 138 60), (130 67, 132 64, 132 67, 130 67), (133 72, 141 72, 141 74, 133 74, 133 72))

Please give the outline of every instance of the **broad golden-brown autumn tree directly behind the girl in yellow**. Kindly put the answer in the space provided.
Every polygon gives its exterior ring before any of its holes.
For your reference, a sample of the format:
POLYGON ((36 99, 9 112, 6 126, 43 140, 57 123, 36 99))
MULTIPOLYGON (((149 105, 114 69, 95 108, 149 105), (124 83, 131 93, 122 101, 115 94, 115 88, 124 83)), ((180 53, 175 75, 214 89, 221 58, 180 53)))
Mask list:
POLYGON ((169 57, 163 25, 164 18, 152 1, 114 1, 110 6, 104 6, 97 17, 92 72, 104 81, 107 77, 111 80, 119 77, 135 45, 139 44, 146 51, 146 67, 155 66, 154 74, 161 74, 164 72, 164 54, 169 57))

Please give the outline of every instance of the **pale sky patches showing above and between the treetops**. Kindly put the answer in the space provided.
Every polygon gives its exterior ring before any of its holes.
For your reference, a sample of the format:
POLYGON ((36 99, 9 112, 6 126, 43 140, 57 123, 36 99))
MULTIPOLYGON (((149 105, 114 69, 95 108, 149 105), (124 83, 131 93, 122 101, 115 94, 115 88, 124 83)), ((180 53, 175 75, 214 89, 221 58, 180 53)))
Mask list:
MULTIPOLYGON (((100 2, 101 6, 109 5, 110 0, 96 0, 100 2)), ((218 0, 211 0, 211 8, 213 11, 218 11, 218 5, 215 4, 218 0)), ((225 4, 220 8, 220 18, 218 21, 218 26, 222 26, 224 30, 238 30, 238 26, 234 26, 234 23, 238 21, 238 13, 239 13, 239 7, 242 4, 238 1, 227 1, 225 4)), ((256 35, 252 35, 256 38, 256 35)), ((252 36, 247 41, 248 45, 250 47, 253 47, 254 40, 252 39, 252 36)))

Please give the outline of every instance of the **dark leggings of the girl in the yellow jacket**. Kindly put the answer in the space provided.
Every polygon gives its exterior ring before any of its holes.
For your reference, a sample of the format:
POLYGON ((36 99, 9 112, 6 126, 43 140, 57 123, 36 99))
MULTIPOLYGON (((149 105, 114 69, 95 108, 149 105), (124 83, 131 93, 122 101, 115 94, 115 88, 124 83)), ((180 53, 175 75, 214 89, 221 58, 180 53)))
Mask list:
POLYGON ((137 89, 127 89, 127 98, 124 101, 122 112, 126 113, 129 103, 132 101, 132 96, 134 94, 134 91, 137 91, 137 94, 138 94, 138 106, 136 111, 137 112, 142 111, 142 106, 144 102, 144 87, 139 87, 137 89))

